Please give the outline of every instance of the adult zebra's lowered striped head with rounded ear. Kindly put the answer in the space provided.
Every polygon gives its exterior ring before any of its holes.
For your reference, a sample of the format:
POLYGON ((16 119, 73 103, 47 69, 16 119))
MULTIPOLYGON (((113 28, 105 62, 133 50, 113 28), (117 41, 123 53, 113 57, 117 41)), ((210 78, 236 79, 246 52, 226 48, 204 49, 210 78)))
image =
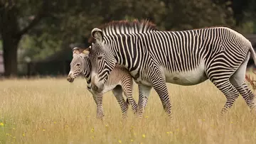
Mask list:
POLYGON ((92 90, 100 92, 110 72, 114 69, 116 60, 109 45, 103 40, 103 33, 99 28, 94 28, 91 32, 95 42, 90 48, 90 62, 92 64, 92 90))

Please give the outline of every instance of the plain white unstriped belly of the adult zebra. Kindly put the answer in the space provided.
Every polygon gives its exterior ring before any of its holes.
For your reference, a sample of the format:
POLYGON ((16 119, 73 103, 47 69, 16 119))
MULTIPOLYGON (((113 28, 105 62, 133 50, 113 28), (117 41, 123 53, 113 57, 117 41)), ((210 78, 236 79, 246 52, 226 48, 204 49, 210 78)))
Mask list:
POLYGON ((196 69, 187 72, 168 72, 164 70, 166 82, 179 85, 195 85, 206 81, 208 77, 205 73, 204 64, 199 65, 196 69))

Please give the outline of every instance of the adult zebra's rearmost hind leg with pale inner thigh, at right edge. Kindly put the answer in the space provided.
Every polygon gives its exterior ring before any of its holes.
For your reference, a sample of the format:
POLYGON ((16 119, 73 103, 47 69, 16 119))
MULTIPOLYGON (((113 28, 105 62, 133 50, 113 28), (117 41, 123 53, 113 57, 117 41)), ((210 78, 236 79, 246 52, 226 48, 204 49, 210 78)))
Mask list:
POLYGON ((256 108, 255 95, 252 93, 252 91, 245 83, 245 72, 249 58, 250 55, 247 55, 247 59, 244 62, 242 62, 242 65, 240 65, 238 70, 230 77, 230 82, 233 84, 235 89, 238 90, 242 98, 245 99, 247 106, 249 106, 249 108, 252 111, 256 108))

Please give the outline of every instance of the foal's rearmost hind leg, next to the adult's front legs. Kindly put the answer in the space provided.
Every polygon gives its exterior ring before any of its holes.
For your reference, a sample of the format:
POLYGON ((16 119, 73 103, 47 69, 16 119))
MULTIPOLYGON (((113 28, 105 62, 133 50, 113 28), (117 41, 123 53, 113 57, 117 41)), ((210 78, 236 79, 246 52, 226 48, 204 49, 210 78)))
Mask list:
POLYGON ((127 101, 132 106, 132 111, 134 111, 134 114, 137 114, 138 105, 136 104, 136 101, 134 100, 132 96, 132 77, 124 79, 125 82, 122 82, 122 89, 124 92, 124 95, 127 97, 127 101), (128 80, 129 79, 129 80, 128 80))

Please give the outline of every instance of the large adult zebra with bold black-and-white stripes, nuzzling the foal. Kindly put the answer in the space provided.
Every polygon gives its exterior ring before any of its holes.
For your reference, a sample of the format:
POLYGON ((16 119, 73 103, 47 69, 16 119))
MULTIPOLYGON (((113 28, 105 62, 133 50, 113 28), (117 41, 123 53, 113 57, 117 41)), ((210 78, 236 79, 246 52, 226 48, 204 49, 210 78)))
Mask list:
POLYGON ((250 54, 255 62, 256 55, 250 41, 230 28, 158 31, 149 21, 115 21, 91 34, 92 84, 100 89, 115 64, 126 67, 139 84, 139 117, 152 87, 171 116, 166 82, 193 85, 210 79, 227 98, 222 115, 239 93, 250 109, 256 106, 245 84, 250 54), (144 32, 147 28, 151 31, 144 32))

